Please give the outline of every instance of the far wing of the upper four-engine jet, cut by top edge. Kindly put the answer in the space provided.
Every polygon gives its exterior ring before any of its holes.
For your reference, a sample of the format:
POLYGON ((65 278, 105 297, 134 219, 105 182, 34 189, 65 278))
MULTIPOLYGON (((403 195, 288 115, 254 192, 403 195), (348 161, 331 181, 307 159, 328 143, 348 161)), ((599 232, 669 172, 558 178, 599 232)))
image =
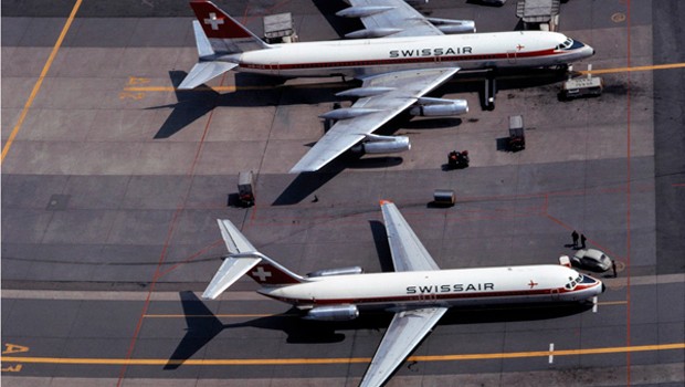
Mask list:
POLYGON ((442 31, 429 22, 419 11, 409 6, 404 0, 349 0, 352 7, 391 7, 361 18, 363 27, 368 30, 388 29, 383 34, 387 38, 396 36, 430 36, 442 35, 442 31))

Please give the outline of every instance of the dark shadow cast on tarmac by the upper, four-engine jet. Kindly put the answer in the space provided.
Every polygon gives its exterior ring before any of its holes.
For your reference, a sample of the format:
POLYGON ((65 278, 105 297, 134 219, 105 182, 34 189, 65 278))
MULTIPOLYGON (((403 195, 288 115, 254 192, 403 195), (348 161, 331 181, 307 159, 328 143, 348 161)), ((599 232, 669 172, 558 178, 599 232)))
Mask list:
MULTIPOLYGON (((169 77, 175 87, 181 83, 186 75, 187 73, 183 71, 169 72, 169 77)), ((558 70, 541 69, 527 70, 525 73, 500 71, 498 72, 498 76, 497 86, 499 91, 503 91, 507 88, 549 85, 563 80, 567 74, 558 70)), ((470 92, 484 93, 482 74, 459 75, 455 80, 457 82, 447 82, 445 85, 441 86, 436 93, 430 93, 430 95, 470 92)), ((284 93, 283 91, 285 88, 276 87, 277 85, 282 85, 283 82, 285 82, 284 79, 238 73, 235 74, 235 83, 239 90, 234 92, 219 93, 209 87, 190 92, 177 90, 176 97, 178 102, 176 104, 148 107, 148 109, 172 109, 154 138, 169 138, 218 106, 276 106, 336 101, 334 94, 341 86, 339 82, 334 82, 317 85, 316 87, 288 87, 288 92, 284 93), (267 87, 265 90, 264 86, 268 85, 274 87, 267 87), (251 88, 251 86, 259 87, 251 88)), ((350 82, 346 86, 352 85, 354 82, 350 82)), ((412 117, 408 113, 400 114, 376 133, 379 135, 392 135, 400 127, 423 130, 429 128, 459 126, 462 124, 461 118, 450 117, 411 119, 412 117)), ((316 172, 299 174, 272 205, 287 206, 298 203, 347 168, 388 168, 400 165, 402 161, 402 157, 398 156, 367 156, 362 158, 359 154, 348 151, 316 172)))

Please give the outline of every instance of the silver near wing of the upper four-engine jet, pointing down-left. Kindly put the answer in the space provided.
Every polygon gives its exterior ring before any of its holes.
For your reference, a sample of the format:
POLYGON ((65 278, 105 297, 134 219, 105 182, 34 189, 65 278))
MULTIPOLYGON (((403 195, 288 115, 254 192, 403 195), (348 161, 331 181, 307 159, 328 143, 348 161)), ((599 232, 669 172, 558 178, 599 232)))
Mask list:
POLYGON ((339 119, 291 169, 291 174, 315 171, 373 133, 418 98, 452 77, 460 67, 407 70, 362 77, 361 90, 383 90, 380 94, 357 100, 348 108, 359 114, 339 119), (357 111, 356 111, 357 109, 357 111))

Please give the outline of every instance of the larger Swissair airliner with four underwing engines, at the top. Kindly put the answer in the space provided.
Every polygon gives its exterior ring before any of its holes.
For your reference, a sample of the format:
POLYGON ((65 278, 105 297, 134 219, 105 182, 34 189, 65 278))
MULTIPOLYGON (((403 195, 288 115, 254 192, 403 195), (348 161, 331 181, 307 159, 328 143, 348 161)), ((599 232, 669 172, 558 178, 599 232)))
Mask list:
POLYGON ((197 87, 229 70, 298 76, 349 76, 361 87, 337 95, 351 107, 322 115, 336 124, 291 169, 315 171, 355 147, 368 154, 403 151, 404 136, 371 135, 401 112, 450 116, 468 111, 465 100, 424 97, 460 70, 545 67, 589 57, 594 50, 561 33, 475 31, 472 21, 425 18, 403 0, 348 0, 337 14, 360 18, 366 29, 341 41, 266 44, 210 1, 192 1, 197 63, 179 90, 197 87))

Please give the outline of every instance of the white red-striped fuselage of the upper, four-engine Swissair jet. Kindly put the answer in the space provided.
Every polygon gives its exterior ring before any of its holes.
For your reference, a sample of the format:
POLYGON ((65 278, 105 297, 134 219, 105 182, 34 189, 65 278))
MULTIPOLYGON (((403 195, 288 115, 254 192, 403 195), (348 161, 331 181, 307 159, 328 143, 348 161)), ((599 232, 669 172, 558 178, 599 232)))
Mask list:
POLYGON ((235 70, 299 76, 362 77, 393 71, 457 66, 544 67, 589 57, 594 50, 557 32, 518 31, 275 44, 219 60, 235 70), (568 42, 567 46, 563 43, 568 42))

